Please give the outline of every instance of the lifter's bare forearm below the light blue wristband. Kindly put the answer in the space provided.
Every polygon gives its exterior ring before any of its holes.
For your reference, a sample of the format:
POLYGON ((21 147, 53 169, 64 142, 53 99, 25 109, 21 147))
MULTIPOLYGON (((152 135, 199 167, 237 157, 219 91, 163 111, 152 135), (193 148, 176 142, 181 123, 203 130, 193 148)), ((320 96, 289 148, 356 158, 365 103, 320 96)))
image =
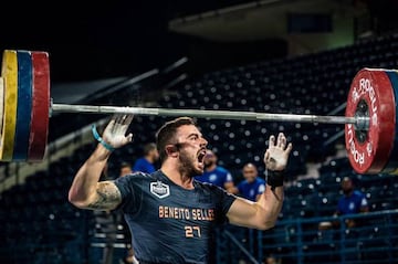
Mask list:
POLYGON ((86 208, 97 199, 97 182, 111 152, 98 145, 75 175, 69 191, 69 200, 78 208, 86 208))

